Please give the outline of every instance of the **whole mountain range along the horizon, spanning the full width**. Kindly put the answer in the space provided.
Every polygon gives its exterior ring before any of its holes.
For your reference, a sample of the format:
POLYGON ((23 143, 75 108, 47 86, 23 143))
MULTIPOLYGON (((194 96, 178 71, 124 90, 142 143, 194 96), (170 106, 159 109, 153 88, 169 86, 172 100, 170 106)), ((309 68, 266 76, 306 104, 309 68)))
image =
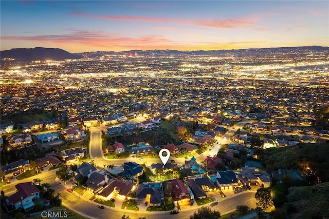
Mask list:
POLYGON ((13 58, 15 61, 30 62, 33 60, 54 60, 63 61, 65 59, 79 59, 82 57, 99 57, 101 55, 129 55, 135 56, 135 54, 149 56, 149 55, 225 55, 235 53, 236 55, 262 55, 263 53, 295 53, 306 51, 328 51, 329 47, 322 46, 301 46, 301 47, 278 47, 278 48, 260 48, 260 49, 238 49, 238 50, 195 50, 195 51, 179 51, 179 50, 130 50, 122 52, 114 51, 97 51, 97 52, 83 52, 83 53, 69 53, 63 49, 56 48, 43 48, 35 47, 30 49, 11 49, 0 51, 1 59, 13 58))

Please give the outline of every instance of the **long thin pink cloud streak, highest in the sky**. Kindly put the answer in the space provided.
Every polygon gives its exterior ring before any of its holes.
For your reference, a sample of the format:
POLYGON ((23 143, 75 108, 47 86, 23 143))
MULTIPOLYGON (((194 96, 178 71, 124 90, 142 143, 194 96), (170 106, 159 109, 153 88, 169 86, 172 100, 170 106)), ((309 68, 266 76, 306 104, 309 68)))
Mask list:
POLYGON ((196 25, 211 28, 239 28, 253 27, 256 29, 266 30, 267 27, 259 26, 255 18, 240 17, 235 19, 186 19, 186 18, 169 18, 169 17, 145 17, 145 16, 112 16, 112 15, 95 15, 82 12, 71 13, 75 16, 90 17, 97 19, 106 19, 110 21, 130 21, 130 22, 149 22, 149 23, 173 23, 196 25))

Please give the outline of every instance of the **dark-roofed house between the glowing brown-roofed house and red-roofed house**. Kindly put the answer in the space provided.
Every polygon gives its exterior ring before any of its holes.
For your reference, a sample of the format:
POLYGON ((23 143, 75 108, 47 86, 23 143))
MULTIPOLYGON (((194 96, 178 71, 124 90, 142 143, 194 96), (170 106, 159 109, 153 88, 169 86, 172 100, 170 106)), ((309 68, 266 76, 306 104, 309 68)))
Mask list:
POLYGON ((164 200, 161 183, 142 183, 136 188, 135 197, 148 201, 150 206, 160 206, 164 200))

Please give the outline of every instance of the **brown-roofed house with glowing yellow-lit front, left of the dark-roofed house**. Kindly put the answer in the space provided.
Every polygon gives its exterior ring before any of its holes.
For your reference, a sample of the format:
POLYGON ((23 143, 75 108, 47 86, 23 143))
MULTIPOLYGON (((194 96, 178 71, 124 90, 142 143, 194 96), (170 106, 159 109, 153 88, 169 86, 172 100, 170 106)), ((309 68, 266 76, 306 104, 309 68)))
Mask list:
POLYGON ((132 190, 134 190, 135 185, 135 183, 131 183, 123 179, 119 180, 117 178, 112 178, 108 185, 106 185, 104 189, 96 194, 96 198, 108 201, 111 200, 114 195, 118 195, 124 199, 125 197, 129 196, 132 190))

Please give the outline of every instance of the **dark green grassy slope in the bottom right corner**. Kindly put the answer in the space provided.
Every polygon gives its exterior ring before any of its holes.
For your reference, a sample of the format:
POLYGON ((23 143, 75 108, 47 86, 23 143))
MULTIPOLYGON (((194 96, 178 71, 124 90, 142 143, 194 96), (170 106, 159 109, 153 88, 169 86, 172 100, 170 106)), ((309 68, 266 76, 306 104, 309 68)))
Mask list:
POLYGON ((297 208, 296 213, 289 215, 291 218, 313 218, 312 216, 318 215, 319 212, 322 218, 329 217, 329 183, 290 187, 287 198, 289 205, 297 208))

